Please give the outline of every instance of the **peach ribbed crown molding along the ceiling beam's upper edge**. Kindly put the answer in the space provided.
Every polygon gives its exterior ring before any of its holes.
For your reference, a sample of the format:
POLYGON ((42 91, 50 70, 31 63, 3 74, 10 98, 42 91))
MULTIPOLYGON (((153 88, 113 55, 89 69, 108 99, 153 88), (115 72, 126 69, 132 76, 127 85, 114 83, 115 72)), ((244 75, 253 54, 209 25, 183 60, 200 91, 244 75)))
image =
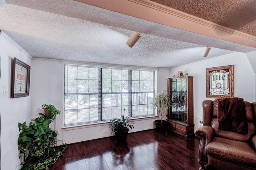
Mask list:
POLYGON ((150 0, 128 0, 128 1, 140 4, 140 5, 143 5, 143 6, 146 6, 146 7, 149 7, 149 8, 158 10, 158 11, 161 11, 161 12, 165 12, 167 14, 171 14, 173 16, 177 16, 177 17, 183 18, 185 20, 189 20, 189 21, 193 21, 193 22, 196 22, 196 23, 200 23, 200 24, 206 25, 208 27, 212 27, 212 28, 215 28, 215 29, 226 31, 228 33, 232 33, 232 34, 238 35, 240 37, 245 37, 245 38, 252 39, 252 40, 256 41, 256 37, 253 36, 253 35, 250 35, 250 34, 247 34, 247 33, 243 33, 243 32, 237 31, 235 29, 228 28, 228 27, 224 27, 224 26, 219 25, 217 23, 213 23, 211 21, 207 21, 207 20, 204 20, 202 18, 198 18, 196 16, 192 16, 192 15, 187 14, 185 12, 181 12, 179 10, 170 8, 168 6, 164 6, 162 4, 158 4, 158 3, 150 1, 150 0))

